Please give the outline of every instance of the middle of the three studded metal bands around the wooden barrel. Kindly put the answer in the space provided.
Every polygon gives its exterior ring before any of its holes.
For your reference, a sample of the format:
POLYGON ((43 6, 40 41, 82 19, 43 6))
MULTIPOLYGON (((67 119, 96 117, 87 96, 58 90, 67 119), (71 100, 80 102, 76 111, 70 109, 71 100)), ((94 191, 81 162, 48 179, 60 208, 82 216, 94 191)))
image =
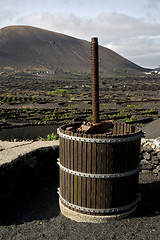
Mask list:
POLYGON ((83 172, 78 172, 78 171, 68 169, 68 168, 62 166, 62 164, 60 164, 59 160, 58 160, 57 164, 59 165, 60 169, 62 169, 62 171, 66 172, 66 173, 70 173, 70 174, 73 174, 73 175, 76 175, 79 177, 98 178, 98 179, 128 177, 128 176, 138 173, 142 169, 142 166, 139 165, 138 168, 136 168, 132 171, 124 172, 124 173, 91 174, 91 173, 83 173, 83 172))

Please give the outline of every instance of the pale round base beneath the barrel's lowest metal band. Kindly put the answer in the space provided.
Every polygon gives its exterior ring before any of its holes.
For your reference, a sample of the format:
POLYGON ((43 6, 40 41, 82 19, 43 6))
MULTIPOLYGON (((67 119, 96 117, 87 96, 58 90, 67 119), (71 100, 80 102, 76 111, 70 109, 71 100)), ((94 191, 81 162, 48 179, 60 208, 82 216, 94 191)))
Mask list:
POLYGON ((117 214, 117 215, 93 216, 93 215, 78 213, 73 210, 70 210, 69 208, 63 205, 60 199, 59 199, 59 206, 60 206, 61 213, 65 217, 71 220, 74 220, 76 222, 89 222, 89 223, 104 223, 104 222, 107 222, 109 219, 121 219, 130 215, 137 208, 137 205, 136 205, 130 211, 117 214))

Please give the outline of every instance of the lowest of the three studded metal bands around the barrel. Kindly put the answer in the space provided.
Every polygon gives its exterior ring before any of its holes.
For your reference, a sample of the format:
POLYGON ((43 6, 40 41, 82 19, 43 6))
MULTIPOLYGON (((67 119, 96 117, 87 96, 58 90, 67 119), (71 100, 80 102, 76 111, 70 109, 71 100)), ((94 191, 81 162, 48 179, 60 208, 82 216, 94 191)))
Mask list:
POLYGON ((58 189, 58 194, 59 194, 61 202, 63 204, 65 204, 67 207, 70 207, 70 208, 75 209, 75 210, 83 211, 83 212, 86 212, 86 213, 99 213, 99 214, 100 213, 102 213, 102 214, 105 214, 105 213, 111 214, 112 213, 113 214, 113 213, 127 211, 127 210, 135 207, 138 204, 138 202, 141 200, 141 195, 138 194, 138 197, 137 197, 136 201, 134 201, 131 204, 128 204, 128 205, 125 205, 125 206, 122 206, 122 207, 118 207, 118 208, 95 209, 95 208, 81 207, 81 206, 78 206, 78 205, 75 205, 73 203, 70 203, 70 202, 66 201, 61 196, 59 189, 58 189))

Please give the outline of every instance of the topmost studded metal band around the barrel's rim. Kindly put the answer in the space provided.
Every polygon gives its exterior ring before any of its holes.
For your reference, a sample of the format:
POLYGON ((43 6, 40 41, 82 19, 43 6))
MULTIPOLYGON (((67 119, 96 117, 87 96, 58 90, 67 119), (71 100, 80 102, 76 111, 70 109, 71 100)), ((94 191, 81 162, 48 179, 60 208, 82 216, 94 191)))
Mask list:
POLYGON ((126 138, 106 138, 106 139, 99 139, 99 138, 83 138, 83 137, 76 137, 76 136, 69 136, 67 134, 61 133, 59 128, 57 129, 57 133, 60 137, 66 138, 73 141, 78 142, 88 142, 88 143, 118 143, 118 142, 131 142, 137 139, 140 139, 143 136, 143 133, 140 133, 136 136, 129 136, 126 138))

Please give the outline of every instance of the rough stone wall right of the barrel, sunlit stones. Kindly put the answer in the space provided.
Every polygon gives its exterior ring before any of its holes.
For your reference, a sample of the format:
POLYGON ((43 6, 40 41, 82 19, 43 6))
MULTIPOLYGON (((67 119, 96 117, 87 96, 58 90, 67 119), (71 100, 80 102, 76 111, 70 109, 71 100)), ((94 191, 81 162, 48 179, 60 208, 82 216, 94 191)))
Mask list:
POLYGON ((160 175, 160 141, 158 139, 142 139, 140 160, 142 171, 152 171, 160 175))

